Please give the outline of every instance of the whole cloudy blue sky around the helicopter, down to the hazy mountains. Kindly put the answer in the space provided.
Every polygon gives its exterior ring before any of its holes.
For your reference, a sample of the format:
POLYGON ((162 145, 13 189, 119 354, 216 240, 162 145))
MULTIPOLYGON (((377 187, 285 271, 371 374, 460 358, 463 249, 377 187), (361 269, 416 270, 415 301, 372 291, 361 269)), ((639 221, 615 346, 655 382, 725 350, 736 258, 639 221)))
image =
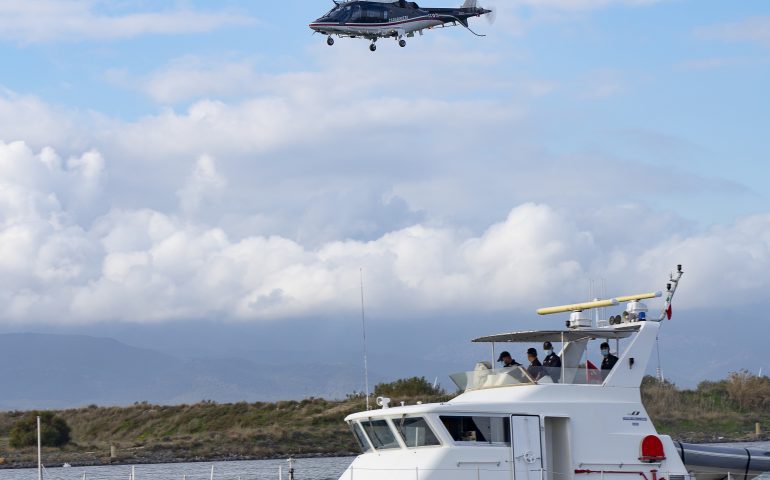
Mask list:
POLYGON ((494 0, 374 54, 329 6, 0 1, 6 321, 347 315, 361 267, 392 316, 770 288, 766 2, 494 0))

